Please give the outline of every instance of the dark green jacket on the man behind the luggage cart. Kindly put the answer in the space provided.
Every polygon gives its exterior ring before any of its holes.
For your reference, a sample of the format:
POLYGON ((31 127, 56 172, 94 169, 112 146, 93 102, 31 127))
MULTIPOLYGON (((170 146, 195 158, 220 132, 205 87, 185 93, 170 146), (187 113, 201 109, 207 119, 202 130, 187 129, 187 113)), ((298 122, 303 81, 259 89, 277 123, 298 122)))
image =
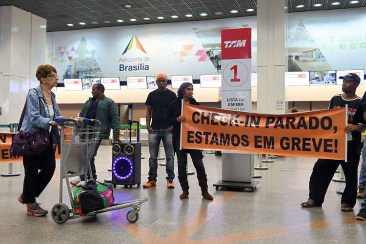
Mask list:
MULTIPOLYGON (((90 108, 90 104, 93 98, 89 98, 88 101, 84 103, 81 109, 80 117, 86 117, 90 108)), ((120 138, 120 116, 118 114, 116 103, 106 96, 98 102, 96 120, 101 122, 101 134, 100 139, 109 139, 109 134, 111 128, 113 129, 113 138, 120 138)))

